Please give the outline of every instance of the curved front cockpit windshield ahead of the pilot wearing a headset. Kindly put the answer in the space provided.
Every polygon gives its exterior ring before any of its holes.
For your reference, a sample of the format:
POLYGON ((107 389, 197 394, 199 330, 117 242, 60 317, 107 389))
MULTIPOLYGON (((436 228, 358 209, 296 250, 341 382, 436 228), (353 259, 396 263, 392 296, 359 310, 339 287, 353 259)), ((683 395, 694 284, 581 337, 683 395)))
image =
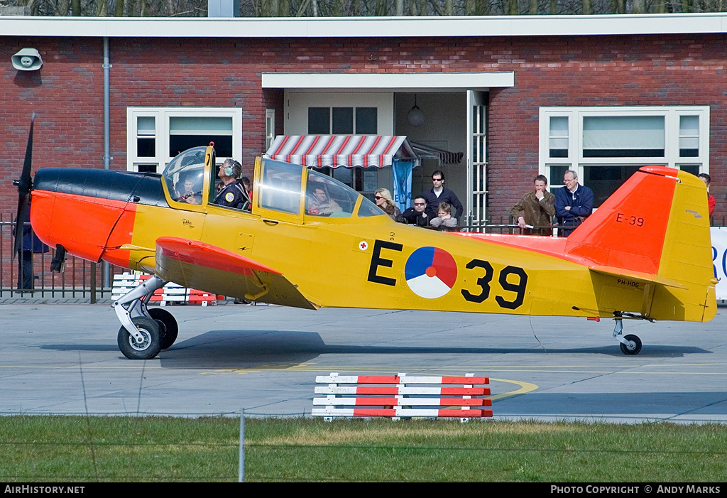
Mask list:
POLYGON ((206 147, 191 148, 166 165, 163 176, 172 200, 185 204, 202 204, 206 153, 206 147))

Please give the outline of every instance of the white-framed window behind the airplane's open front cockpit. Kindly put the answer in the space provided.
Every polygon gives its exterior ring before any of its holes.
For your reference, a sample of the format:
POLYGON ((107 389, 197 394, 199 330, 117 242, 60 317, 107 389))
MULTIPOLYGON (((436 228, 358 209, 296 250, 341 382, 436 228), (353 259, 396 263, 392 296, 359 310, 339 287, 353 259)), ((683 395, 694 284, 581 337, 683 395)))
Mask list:
POLYGON ((217 163, 241 160, 239 108, 127 108, 126 169, 160 172, 178 153, 214 142, 217 163))

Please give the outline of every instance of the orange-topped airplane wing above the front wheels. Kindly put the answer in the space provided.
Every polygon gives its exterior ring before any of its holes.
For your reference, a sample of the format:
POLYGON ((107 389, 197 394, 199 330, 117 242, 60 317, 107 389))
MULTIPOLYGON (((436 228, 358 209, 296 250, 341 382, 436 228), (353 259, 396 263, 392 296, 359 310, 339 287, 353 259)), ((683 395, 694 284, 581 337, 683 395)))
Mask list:
POLYGON ((156 239, 156 274, 190 289, 294 308, 320 308, 279 271, 187 238, 156 239))

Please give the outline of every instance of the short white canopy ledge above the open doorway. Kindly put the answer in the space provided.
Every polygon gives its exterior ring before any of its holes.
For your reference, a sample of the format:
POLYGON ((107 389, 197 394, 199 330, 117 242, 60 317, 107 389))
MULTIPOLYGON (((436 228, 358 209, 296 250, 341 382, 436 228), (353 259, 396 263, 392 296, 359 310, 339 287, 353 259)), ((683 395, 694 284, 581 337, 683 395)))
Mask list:
POLYGON ((515 73, 262 73, 262 88, 488 89, 514 87, 515 73))

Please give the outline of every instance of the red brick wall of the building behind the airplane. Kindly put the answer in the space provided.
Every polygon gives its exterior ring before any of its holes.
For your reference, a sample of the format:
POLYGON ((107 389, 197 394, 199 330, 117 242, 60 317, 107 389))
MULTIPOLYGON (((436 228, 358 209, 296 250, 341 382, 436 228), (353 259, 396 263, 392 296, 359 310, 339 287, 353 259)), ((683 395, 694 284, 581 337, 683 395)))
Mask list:
MULTIPOLYGON (((263 72, 514 71, 491 89, 489 202, 506 216, 537 173, 538 111, 551 105, 710 105, 715 217, 727 214, 723 35, 467 39, 111 39, 112 168, 126 167, 127 106, 243 109, 245 173, 265 145, 265 108, 283 124, 283 93, 263 72)), ((34 166, 103 167, 100 39, 4 37, 0 60, 41 52, 41 71, 0 65, 0 211, 15 209, 32 111, 34 166)))

